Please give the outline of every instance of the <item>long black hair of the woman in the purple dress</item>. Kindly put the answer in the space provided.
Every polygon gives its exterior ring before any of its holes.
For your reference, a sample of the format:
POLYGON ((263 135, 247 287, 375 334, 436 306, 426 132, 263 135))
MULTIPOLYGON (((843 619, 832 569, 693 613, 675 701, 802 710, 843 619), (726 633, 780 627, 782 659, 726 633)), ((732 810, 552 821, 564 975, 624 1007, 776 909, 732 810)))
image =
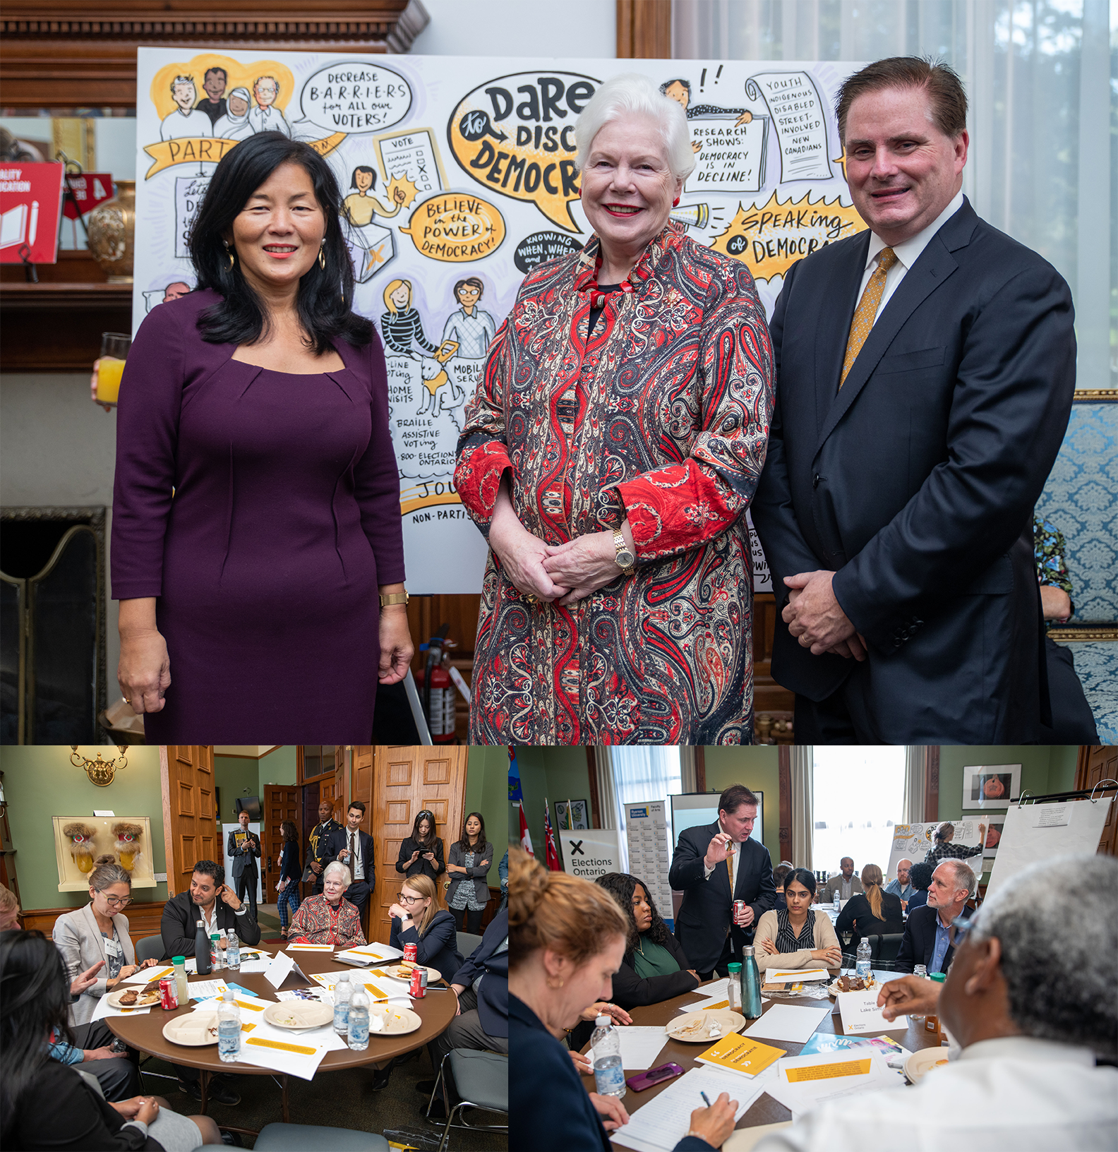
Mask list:
POLYGON ((353 265, 342 235, 342 194, 322 157, 310 144, 288 139, 283 132, 258 132, 241 141, 222 157, 206 189, 190 230, 190 259, 198 288, 212 288, 225 300, 198 317, 201 339, 212 344, 254 344, 266 334, 267 314, 245 280, 241 262, 234 259, 230 267, 225 235, 249 197, 281 164, 297 164, 306 172, 326 217, 326 266, 315 259, 299 280, 299 323, 317 355, 328 351, 334 338, 360 348, 373 339, 373 325, 352 310, 353 265))

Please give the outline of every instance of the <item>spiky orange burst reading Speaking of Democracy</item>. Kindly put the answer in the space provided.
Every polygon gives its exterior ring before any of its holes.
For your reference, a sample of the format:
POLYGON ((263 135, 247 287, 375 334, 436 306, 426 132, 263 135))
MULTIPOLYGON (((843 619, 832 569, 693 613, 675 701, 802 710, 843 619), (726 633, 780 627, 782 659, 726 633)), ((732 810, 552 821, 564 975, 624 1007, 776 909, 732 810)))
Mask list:
POLYGON ((862 218, 837 196, 812 204, 805 195, 782 204, 774 192, 763 207, 739 204, 729 227, 710 247, 747 264, 754 280, 771 280, 803 257, 865 229, 862 218))

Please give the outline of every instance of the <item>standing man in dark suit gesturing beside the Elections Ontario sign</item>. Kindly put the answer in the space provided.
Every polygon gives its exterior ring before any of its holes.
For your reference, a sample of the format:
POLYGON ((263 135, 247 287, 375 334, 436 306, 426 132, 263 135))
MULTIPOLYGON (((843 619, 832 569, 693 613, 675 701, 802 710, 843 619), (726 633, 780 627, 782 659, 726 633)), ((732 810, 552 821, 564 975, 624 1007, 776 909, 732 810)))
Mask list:
POLYGON ((753 939, 761 914, 776 904, 768 849, 750 839, 755 820, 756 796, 744 785, 731 785, 718 797, 714 824, 679 833, 668 872, 671 887, 683 892, 676 939, 700 980, 715 971, 725 976, 725 965, 753 939), (746 903, 737 919, 736 900, 746 903))

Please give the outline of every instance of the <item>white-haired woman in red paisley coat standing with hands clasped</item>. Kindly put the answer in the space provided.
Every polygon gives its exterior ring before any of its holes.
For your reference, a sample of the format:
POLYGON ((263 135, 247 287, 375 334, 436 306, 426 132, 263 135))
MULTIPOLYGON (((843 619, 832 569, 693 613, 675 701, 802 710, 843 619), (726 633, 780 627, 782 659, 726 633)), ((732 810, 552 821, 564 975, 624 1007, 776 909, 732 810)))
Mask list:
POLYGON ((470 740, 750 743, 765 312, 670 220, 694 167, 675 100, 616 76, 575 135, 594 234, 525 278, 458 441, 490 550, 470 740))

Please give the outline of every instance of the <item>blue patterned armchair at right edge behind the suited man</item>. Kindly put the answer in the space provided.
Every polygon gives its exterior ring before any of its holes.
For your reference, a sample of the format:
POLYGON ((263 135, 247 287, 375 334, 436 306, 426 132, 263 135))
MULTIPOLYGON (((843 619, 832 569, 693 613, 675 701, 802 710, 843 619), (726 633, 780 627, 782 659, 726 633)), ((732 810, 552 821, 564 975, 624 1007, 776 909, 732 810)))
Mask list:
POLYGON ((1075 614, 1051 637, 1071 647, 1098 738, 1118 744, 1118 403, 1072 406, 1036 513, 1067 545, 1075 614))

